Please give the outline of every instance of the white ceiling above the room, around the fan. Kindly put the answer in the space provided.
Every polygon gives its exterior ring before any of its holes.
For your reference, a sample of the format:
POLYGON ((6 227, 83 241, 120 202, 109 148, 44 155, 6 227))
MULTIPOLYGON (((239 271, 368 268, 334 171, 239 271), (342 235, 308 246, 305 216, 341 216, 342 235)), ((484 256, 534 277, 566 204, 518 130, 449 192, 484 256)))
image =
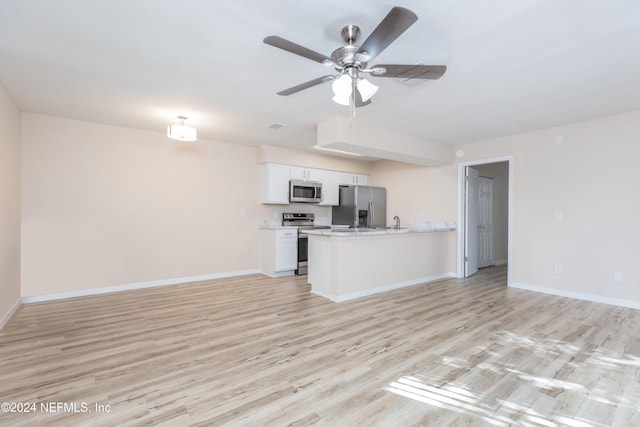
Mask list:
POLYGON ((325 55, 393 6, 418 21, 376 63, 443 64, 440 79, 380 89, 356 120, 446 144, 640 109, 638 0, 1 0, 0 84, 22 111, 164 132, 186 115, 201 139, 306 148, 347 116, 325 55), (283 123, 279 130, 272 123, 283 123))

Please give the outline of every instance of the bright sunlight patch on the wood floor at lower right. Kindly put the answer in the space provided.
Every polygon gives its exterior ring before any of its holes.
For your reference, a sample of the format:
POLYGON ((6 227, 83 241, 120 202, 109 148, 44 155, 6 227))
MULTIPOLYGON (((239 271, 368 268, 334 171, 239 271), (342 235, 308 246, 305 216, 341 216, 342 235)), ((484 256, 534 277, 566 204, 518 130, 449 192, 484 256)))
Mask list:
POLYGON ((384 390, 495 426, 600 427, 613 422, 611 408, 640 418, 639 368, 628 354, 501 331, 384 390))

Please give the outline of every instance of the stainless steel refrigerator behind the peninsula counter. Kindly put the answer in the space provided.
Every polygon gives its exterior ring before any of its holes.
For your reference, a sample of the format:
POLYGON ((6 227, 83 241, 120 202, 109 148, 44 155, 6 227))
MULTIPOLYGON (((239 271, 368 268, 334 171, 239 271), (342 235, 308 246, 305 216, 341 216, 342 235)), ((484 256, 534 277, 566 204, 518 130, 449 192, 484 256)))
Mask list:
POLYGON ((340 187, 340 205, 331 208, 331 223, 380 228, 387 223, 387 189, 366 185, 340 187))

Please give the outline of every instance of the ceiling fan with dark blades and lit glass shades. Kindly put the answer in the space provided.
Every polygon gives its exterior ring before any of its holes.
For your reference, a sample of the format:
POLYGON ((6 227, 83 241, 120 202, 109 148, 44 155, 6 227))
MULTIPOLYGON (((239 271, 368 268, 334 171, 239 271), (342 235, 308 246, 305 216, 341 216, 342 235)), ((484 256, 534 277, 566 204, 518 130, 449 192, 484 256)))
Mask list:
POLYGON ((342 105, 362 107, 371 103, 371 97, 377 86, 360 77, 366 73, 374 77, 391 77, 399 79, 430 79, 442 77, 447 70, 445 65, 401 65, 378 64, 368 68, 368 63, 404 33, 418 16, 402 7, 394 7, 378 24, 364 43, 356 44, 360 36, 360 28, 347 25, 342 28, 342 39, 345 46, 334 50, 331 56, 325 56, 304 46, 300 46, 278 36, 265 37, 263 42, 287 52, 308 58, 326 66, 332 66, 338 74, 330 74, 278 92, 288 96, 319 84, 333 81, 333 100, 342 105))

